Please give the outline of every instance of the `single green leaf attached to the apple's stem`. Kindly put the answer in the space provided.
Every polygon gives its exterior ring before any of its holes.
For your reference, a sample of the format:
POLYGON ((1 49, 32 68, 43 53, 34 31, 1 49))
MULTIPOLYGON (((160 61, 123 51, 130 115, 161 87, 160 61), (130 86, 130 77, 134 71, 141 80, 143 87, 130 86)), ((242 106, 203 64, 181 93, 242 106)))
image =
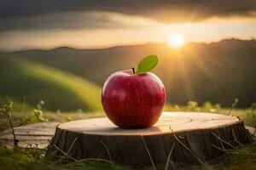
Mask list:
POLYGON ((158 59, 156 55, 148 55, 137 65, 136 74, 143 74, 151 71, 157 65, 158 59))

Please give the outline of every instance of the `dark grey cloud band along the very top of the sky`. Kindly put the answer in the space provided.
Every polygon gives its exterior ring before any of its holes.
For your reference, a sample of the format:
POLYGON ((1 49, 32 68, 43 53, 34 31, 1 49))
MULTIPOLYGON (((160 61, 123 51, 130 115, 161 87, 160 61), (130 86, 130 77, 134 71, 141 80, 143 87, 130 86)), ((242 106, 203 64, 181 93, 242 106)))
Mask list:
POLYGON ((138 14, 156 20, 180 15, 194 14, 201 17, 225 15, 251 15, 256 10, 254 0, 2 0, 0 18, 20 17, 35 14, 49 14, 67 11, 108 11, 122 14, 138 14), (196 14, 195 14, 196 13, 196 14))

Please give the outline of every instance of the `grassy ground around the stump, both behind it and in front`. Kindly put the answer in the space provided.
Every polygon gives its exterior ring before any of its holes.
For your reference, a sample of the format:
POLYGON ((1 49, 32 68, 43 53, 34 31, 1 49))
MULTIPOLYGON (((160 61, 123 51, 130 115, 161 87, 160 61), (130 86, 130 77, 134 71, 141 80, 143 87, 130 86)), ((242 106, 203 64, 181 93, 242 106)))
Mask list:
MULTIPOLYGON (((42 108, 43 105, 38 105, 42 108)), ((214 106, 203 105, 196 106, 195 102, 190 102, 185 106, 172 106, 166 107, 166 111, 214 111, 225 115, 231 114, 232 116, 241 116, 246 125, 253 126, 256 123, 255 105, 248 109, 236 108, 216 108, 214 106)), ((15 124, 19 124, 27 117, 33 116, 33 113, 27 113, 31 109, 23 111, 15 111, 13 120, 15 124)), ((67 122, 78 119, 86 119, 90 117, 104 116, 102 111, 98 112, 49 112, 43 113, 41 120, 32 118, 28 123, 32 122, 67 122)), ((2 130, 8 127, 8 120, 5 116, 1 116, 0 125, 2 130)), ((104 163, 99 161, 84 161, 84 162, 71 162, 68 164, 61 164, 60 162, 49 161, 44 159, 45 150, 32 150, 32 149, 15 149, 6 150, 0 149, 0 169, 131 169, 131 167, 124 167, 116 164, 104 163), (4 163, 3 163, 4 162, 4 163)), ((237 150, 227 150, 227 154, 217 160, 208 162, 204 166, 197 165, 175 165, 181 169, 255 169, 256 168, 256 143, 238 147, 237 150), (246 161, 244 161, 246 159, 246 161)), ((162 169, 161 167, 159 167, 162 169)), ((150 168, 149 168, 150 169, 150 168)))

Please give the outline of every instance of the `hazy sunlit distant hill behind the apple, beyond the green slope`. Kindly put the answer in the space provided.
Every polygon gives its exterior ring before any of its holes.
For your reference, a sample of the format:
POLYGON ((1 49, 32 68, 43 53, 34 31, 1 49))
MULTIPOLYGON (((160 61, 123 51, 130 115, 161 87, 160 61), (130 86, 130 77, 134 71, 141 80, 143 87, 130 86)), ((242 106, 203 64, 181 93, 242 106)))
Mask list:
POLYGON ((164 82, 172 104, 206 100, 230 106, 256 101, 256 41, 236 39, 189 43, 179 50, 166 44, 146 44, 105 49, 55 48, 12 53, 84 77, 102 86, 114 71, 131 69, 148 54, 160 63, 154 73, 164 82))

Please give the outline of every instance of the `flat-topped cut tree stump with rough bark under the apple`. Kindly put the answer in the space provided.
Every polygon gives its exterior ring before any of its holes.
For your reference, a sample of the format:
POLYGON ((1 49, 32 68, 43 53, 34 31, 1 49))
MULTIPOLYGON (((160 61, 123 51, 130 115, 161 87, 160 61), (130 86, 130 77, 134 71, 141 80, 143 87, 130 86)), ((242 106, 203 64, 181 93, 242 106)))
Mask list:
POLYGON ((241 118, 203 112, 164 112, 154 127, 123 129, 107 117, 61 123, 47 156, 107 159, 131 166, 204 163, 253 141, 241 118), (65 154, 64 154, 65 155, 65 154))

